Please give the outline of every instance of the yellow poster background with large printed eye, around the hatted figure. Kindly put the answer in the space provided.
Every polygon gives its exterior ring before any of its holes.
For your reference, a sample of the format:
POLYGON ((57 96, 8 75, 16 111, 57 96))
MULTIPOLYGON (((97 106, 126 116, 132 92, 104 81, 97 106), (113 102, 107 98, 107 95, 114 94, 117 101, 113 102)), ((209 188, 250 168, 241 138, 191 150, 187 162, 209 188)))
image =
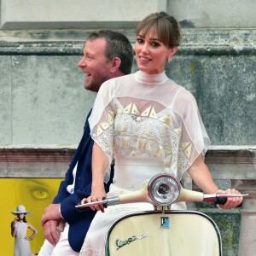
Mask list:
MULTIPOLYGON (((61 178, 0 178, 0 252, 4 255, 14 254, 15 238, 11 236, 11 222, 15 215, 11 212, 18 205, 24 205, 27 212, 26 221, 38 230, 38 235, 30 241, 32 253, 38 253, 44 242, 40 219, 44 208, 49 205, 58 192, 61 178)), ((27 230, 30 236, 31 230, 27 230)), ((1 255, 3 255, 1 253, 1 255)))

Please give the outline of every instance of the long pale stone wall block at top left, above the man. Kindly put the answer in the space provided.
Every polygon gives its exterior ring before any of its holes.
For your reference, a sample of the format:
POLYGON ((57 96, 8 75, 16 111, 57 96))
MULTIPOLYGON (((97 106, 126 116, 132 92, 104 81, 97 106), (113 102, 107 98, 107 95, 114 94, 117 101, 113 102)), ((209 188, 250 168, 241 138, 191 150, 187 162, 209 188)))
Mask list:
POLYGON ((133 26, 166 0, 2 0, 1 29, 133 26))

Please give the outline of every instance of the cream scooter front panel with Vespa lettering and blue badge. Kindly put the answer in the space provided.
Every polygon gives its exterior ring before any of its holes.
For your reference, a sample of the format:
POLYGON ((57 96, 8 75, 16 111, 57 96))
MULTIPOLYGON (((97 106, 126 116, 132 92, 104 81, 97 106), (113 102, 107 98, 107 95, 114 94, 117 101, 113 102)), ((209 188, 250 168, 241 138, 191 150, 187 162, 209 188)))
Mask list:
POLYGON ((194 211, 131 212, 106 237, 108 256, 221 256, 218 226, 194 211))

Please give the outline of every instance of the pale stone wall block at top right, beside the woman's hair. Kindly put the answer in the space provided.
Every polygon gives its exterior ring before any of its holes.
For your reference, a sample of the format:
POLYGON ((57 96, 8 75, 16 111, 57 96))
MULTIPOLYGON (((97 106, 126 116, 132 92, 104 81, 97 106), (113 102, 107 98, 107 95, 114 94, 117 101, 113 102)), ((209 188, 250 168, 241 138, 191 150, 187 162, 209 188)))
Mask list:
POLYGON ((255 0, 169 0, 167 11, 190 27, 255 27, 255 0))

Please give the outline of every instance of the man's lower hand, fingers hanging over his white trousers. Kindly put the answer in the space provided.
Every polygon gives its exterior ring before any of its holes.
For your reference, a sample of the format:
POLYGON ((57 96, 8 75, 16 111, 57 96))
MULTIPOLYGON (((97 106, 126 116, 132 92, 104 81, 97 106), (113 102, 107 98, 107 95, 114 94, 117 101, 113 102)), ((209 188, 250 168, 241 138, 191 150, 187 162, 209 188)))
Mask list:
POLYGON ((59 220, 48 220, 44 224, 44 237, 53 246, 60 240, 60 234, 64 230, 65 221, 64 219, 59 220))

